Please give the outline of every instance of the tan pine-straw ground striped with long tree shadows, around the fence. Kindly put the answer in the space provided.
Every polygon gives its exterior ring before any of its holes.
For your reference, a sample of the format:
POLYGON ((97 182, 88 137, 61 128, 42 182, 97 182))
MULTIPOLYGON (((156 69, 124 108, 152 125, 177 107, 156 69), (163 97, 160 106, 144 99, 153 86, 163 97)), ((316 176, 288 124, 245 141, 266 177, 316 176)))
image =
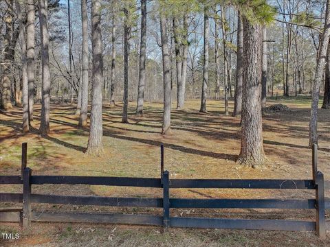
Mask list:
MULTIPOLYGON (((232 110, 232 102, 230 102, 232 110)), ((311 150, 308 145, 310 100, 270 100, 271 104, 285 104, 289 110, 266 112, 263 117, 263 137, 268 161, 265 167, 252 169, 236 163, 240 148, 239 118, 223 115, 223 102, 208 101, 208 114, 199 113, 199 100, 186 103, 185 110, 173 110, 172 133, 160 134, 162 103, 146 102, 144 117, 134 117, 135 102, 129 104, 130 124, 121 123, 122 104, 110 108, 104 104, 104 156, 84 154, 88 132, 77 128, 75 107, 68 104, 51 106, 51 129, 47 139, 41 138, 40 106, 36 105, 36 121, 30 134, 21 134, 21 108, 0 113, 0 174, 19 174, 21 143, 28 142, 28 166, 33 174, 81 176, 141 176, 159 177, 159 145, 165 145, 165 169, 170 178, 311 178, 311 150)), ((175 102, 173 102, 173 109, 175 102)), ((320 109, 319 169, 330 180, 330 112, 320 109)), ((19 192, 21 186, 1 186, 1 192, 19 192)), ((88 185, 42 185, 32 187, 34 193, 58 195, 97 195, 158 197, 159 189, 105 187, 88 185)), ((313 198, 313 191, 270 191, 249 189, 171 189, 175 198, 313 198)), ((330 191, 326 191, 330 196, 330 191)), ((18 207, 1 203, 0 207, 18 207)), ((38 211, 111 211, 123 213, 161 214, 159 209, 80 207, 69 205, 35 204, 38 211)), ((209 210, 178 209, 172 215, 204 217, 241 217, 268 219, 311 220, 315 211, 294 210, 209 210)), ((100 226, 83 224, 34 224, 34 231, 22 233, 21 240, 10 244, 39 246, 313 246, 325 245, 314 233, 280 233, 258 231, 223 231, 170 229, 139 226, 100 226), (42 226, 42 227, 41 227, 42 226), (85 233, 79 231, 85 229, 85 233), (88 230, 88 229, 91 230, 88 230), (115 231, 113 229, 116 228, 115 231), (47 229, 47 230, 45 230, 47 229), (70 230, 71 229, 71 230, 70 230), (86 230, 87 229, 87 230, 86 230), (93 230, 94 229, 94 230, 93 230), (47 233, 41 234, 41 231, 47 233), (113 231, 113 233, 112 233, 113 231), (40 233, 40 234, 39 234, 40 233), (113 237, 109 237, 109 235, 113 237), (44 237, 42 237, 42 236, 44 237), (109 237, 109 239, 108 239, 109 237), (39 239, 39 240, 38 240, 39 239), (48 240, 47 240, 48 239, 48 240), (87 239, 89 239, 87 241, 87 239), (111 240, 112 239, 112 240, 111 240), (270 244, 271 242, 271 244, 270 244), (79 244, 80 243, 80 244, 79 244), (98 244, 96 244, 98 243, 98 244), (53 244, 53 245, 52 245, 53 244), (76 245, 75 245, 76 244, 76 245), (311 245, 310 245, 311 244, 311 245)), ((1 226, 1 232, 16 229, 13 224, 1 226)), ((329 237, 328 237, 329 238, 329 237)), ((0 240, 1 241, 1 240, 0 240)), ((6 242, 6 244, 9 244, 6 242)))

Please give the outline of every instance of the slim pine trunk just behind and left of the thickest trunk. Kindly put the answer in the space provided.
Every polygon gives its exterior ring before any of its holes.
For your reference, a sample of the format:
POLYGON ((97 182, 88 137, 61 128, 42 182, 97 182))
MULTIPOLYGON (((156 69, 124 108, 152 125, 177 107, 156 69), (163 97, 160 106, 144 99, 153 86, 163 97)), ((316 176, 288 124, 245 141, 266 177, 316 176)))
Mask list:
POLYGON ((241 13, 237 17, 237 56, 236 56, 236 86, 233 117, 241 115, 242 84, 243 84, 243 23, 241 13))

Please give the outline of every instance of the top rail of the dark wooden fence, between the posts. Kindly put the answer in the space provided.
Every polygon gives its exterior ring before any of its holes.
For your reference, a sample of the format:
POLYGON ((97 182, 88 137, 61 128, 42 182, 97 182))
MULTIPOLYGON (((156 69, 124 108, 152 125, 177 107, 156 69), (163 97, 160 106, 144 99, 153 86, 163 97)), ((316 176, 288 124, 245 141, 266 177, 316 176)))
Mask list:
MULTIPOLYGON (((21 180, 21 176, 0 176, 0 184, 23 184, 23 181, 21 180)), ((161 178, 107 176, 31 176, 31 184, 110 185, 162 188, 161 178)), ((170 179, 169 187, 171 189, 315 189, 313 180, 287 179, 170 179)))

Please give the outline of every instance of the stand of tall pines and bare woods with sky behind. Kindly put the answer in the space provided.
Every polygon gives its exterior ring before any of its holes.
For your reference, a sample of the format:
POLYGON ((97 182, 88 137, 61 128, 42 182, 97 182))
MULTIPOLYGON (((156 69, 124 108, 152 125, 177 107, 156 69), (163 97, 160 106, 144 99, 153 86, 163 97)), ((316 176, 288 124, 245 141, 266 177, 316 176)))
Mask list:
POLYGON ((129 124, 129 101, 142 117, 144 102, 162 100, 167 135, 173 101, 184 110, 187 100, 200 98, 199 112, 208 114, 208 99, 216 99, 224 115, 241 117, 238 161, 258 166, 266 160, 267 97, 311 95, 309 146, 318 143, 320 94, 322 108, 330 108, 329 1, 0 4, 1 108, 23 106, 23 133, 40 121, 47 137, 50 105, 75 104, 77 126, 89 126, 87 153, 102 155, 102 104, 116 108, 122 101, 122 123, 129 124))

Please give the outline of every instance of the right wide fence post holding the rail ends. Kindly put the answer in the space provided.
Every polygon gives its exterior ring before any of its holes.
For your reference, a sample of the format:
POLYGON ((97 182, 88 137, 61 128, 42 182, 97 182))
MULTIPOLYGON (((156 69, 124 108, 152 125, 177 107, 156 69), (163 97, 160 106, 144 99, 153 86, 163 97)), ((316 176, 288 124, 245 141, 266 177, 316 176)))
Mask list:
POLYGON ((316 233, 325 239, 325 180, 322 172, 316 174, 316 233))

